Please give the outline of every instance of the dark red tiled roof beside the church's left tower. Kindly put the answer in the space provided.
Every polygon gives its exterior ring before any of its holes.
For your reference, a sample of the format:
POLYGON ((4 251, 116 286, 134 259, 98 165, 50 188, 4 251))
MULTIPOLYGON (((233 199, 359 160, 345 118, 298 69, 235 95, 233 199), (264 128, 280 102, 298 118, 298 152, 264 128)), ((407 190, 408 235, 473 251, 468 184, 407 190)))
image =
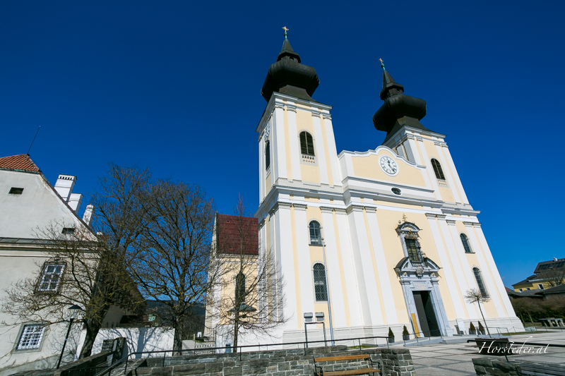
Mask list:
POLYGON ((258 220, 255 217, 218 214, 216 242, 218 253, 239 254, 243 248, 246 255, 258 255, 258 220))

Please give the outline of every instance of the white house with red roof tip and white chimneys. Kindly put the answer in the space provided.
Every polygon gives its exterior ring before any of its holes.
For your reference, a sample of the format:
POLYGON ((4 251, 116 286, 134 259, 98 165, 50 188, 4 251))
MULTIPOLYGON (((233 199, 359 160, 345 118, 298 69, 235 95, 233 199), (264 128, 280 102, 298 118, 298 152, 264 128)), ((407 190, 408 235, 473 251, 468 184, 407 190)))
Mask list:
MULTIPOLYGON (((0 158, 0 299, 23 279, 37 279, 37 293, 57 291, 64 262, 52 260, 37 234, 58 223, 61 231, 88 228, 90 205, 81 218, 83 195, 73 193, 76 176, 61 174, 52 186, 28 154, 0 158)), ((18 322, 0 313, 0 375, 52 368, 67 325, 18 322)), ((67 350, 71 350, 69 347, 67 350)))

